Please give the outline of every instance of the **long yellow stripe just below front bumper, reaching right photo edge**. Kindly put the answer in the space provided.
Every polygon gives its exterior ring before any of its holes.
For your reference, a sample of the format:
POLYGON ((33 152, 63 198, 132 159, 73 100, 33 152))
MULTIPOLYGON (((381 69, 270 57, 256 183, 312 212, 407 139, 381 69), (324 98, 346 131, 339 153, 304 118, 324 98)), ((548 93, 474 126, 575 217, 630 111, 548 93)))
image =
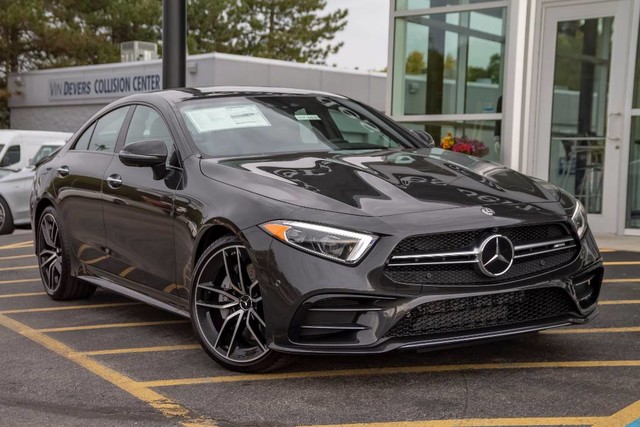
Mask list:
POLYGON ((558 369, 558 368, 612 368, 640 367, 640 360, 597 360, 578 362, 522 362, 485 363, 436 366, 398 366, 390 368, 336 369, 330 371, 285 372, 275 374, 224 375, 217 377, 180 378, 143 382, 145 387, 170 387, 179 385, 217 384, 241 381, 290 380, 299 378, 354 377, 389 374, 427 374, 438 372, 482 371, 503 369, 558 369))

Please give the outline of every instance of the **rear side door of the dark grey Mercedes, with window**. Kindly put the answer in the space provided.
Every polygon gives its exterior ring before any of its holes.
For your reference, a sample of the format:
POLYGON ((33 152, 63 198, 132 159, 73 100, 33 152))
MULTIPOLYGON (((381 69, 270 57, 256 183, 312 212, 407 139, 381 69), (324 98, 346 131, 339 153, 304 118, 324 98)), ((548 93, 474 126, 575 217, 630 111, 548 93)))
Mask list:
POLYGON ((55 168, 53 185, 71 246, 86 267, 106 270, 102 183, 114 158, 130 107, 120 107, 86 127, 71 148, 47 167, 55 168))

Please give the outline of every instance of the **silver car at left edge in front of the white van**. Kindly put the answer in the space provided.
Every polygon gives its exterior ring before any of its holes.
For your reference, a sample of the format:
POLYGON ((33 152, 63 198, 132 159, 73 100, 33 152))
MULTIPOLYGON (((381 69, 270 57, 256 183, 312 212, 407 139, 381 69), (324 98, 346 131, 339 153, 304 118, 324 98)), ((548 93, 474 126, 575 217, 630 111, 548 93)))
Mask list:
POLYGON ((29 224, 29 195, 36 165, 64 144, 64 141, 47 141, 33 155, 29 166, 18 171, 0 168, 0 234, 13 232, 16 225, 29 224))

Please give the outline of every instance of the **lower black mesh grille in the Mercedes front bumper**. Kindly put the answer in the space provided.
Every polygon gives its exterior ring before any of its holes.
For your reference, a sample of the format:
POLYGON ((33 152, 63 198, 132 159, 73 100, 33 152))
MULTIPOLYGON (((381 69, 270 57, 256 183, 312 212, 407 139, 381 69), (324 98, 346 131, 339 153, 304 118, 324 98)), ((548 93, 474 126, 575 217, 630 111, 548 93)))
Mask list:
POLYGON ((573 311, 575 304, 560 288, 456 298, 419 305, 385 336, 399 338, 471 332, 566 316, 573 311))

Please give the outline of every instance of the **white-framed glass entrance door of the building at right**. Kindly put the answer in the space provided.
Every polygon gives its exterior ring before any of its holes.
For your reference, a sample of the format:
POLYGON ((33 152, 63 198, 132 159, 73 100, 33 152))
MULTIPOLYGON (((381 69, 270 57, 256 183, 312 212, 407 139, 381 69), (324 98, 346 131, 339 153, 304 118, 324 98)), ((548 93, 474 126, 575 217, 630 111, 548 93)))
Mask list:
POLYGON ((597 232, 618 231, 631 2, 543 9, 536 174, 574 194, 597 232))

